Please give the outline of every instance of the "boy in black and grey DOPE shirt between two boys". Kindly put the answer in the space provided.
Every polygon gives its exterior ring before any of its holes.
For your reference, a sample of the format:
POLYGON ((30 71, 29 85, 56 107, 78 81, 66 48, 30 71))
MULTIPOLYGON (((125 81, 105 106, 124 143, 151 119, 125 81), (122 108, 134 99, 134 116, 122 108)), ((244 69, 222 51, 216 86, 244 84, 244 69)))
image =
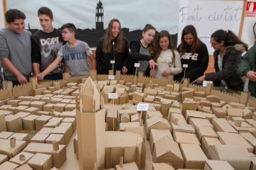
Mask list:
MULTIPOLYGON (((44 71, 57 57, 58 51, 63 46, 61 30, 53 28, 53 12, 48 7, 41 7, 38 10, 41 30, 36 31, 32 36, 32 65, 33 76, 44 71)), ((62 79, 64 72, 64 62, 61 61, 54 70, 52 70, 44 79, 56 80, 62 79)))

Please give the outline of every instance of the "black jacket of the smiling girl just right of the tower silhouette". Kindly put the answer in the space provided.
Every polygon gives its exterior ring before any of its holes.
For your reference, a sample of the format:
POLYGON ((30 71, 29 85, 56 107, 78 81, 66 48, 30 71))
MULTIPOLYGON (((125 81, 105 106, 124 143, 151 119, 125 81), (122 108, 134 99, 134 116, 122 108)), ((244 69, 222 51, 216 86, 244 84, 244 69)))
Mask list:
POLYGON ((128 69, 127 65, 129 62, 130 54, 129 54, 129 42, 127 41, 127 39, 123 38, 122 52, 117 53, 117 54, 114 54, 113 46, 111 46, 110 53, 103 52, 104 39, 105 39, 105 37, 100 38, 98 41, 98 45, 96 47, 95 59, 96 59, 97 74, 98 75, 108 75, 108 70, 112 70, 112 63, 110 63, 111 60, 115 60, 114 74, 116 74, 116 70, 122 71, 122 67, 124 67, 124 66, 128 69))

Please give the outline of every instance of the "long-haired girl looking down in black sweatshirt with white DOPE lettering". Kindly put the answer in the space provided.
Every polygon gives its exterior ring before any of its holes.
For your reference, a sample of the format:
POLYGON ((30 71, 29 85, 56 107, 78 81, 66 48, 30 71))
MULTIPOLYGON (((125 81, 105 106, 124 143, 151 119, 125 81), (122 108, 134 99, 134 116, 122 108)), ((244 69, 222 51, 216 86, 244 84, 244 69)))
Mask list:
MULTIPOLYGON (((190 83, 202 76, 207 70, 209 54, 207 46, 197 37, 197 30, 193 25, 187 25, 182 30, 181 44, 177 47, 181 53, 181 63, 187 64, 185 78, 190 79, 190 83)), ((177 81, 182 82, 184 78, 184 69, 177 75, 177 81)), ((201 84, 200 84, 201 85, 201 84)))

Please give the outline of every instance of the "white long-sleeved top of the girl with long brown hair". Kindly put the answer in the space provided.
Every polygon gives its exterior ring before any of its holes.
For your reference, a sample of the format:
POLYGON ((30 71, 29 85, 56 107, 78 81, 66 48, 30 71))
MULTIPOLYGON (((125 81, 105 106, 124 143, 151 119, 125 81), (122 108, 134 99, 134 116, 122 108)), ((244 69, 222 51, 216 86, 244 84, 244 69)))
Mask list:
POLYGON ((169 76, 177 75, 182 72, 181 67, 181 57, 179 52, 175 51, 175 60, 173 62, 173 51, 168 49, 167 51, 161 51, 156 63, 159 65, 156 67, 155 70, 155 77, 156 78, 165 78, 168 79, 168 76, 162 76, 165 70, 171 69, 171 73, 169 76))

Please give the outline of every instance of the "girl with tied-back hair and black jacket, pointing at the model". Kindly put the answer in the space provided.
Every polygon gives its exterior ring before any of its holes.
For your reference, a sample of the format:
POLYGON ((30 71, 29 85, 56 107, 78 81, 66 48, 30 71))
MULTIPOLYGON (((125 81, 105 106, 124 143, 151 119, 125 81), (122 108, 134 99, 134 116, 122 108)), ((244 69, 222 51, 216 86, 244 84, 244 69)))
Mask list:
POLYGON ((155 34, 156 29, 152 25, 147 24, 142 30, 143 38, 130 42, 130 57, 134 59, 135 63, 140 63, 137 73, 139 71, 143 72, 143 76, 149 76, 150 69, 155 70, 155 65, 158 65, 151 57, 153 54, 155 34))

